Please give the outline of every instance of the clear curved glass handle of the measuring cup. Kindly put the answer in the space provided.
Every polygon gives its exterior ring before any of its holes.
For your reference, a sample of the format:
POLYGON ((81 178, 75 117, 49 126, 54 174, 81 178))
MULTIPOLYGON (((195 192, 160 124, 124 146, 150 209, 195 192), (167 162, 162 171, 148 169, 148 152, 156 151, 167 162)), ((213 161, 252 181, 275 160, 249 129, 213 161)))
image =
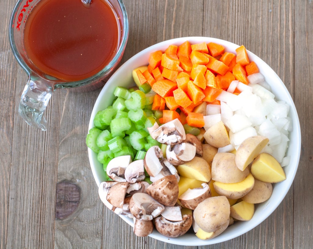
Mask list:
POLYGON ((47 130, 47 121, 43 114, 52 92, 52 87, 44 80, 29 78, 18 106, 18 113, 28 125, 47 130))

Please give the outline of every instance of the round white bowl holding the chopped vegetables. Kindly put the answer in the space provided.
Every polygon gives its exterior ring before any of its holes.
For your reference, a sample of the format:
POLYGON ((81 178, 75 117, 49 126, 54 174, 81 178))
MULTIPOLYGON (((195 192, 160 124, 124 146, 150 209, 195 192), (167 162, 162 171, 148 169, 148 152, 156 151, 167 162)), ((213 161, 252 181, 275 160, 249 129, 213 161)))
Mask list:
MULTIPOLYGON (((225 47, 225 51, 235 53, 235 49, 239 46, 230 43, 228 41, 216 39, 216 38, 208 38, 208 37, 183 37, 183 38, 175 38, 171 40, 167 40, 161 43, 157 43, 149 48, 142 50, 141 52, 134 55, 128 61, 126 61, 116 72, 110 77, 102 91, 99 94, 95 102, 95 106, 92 110, 89 129, 94 127, 93 119, 95 114, 105 109, 108 105, 112 104, 113 101, 113 91, 116 86, 124 86, 128 87, 134 85, 132 80, 132 70, 148 64, 149 54, 156 50, 164 51, 169 45, 175 44, 180 45, 185 41, 189 41, 191 44, 200 43, 200 42, 215 42, 222 44, 225 47)), ((254 212, 254 216, 250 221, 238 221, 235 224, 229 226, 222 234, 211 239, 211 240, 201 240, 195 236, 194 233, 187 233, 178 238, 168 238, 156 230, 149 236, 155 238, 160 241, 164 241, 167 243, 183 245, 183 246, 202 246, 202 245, 211 245, 220 243, 223 241, 227 241, 233 239, 237 236, 240 236, 255 226, 258 226, 262 221, 264 221, 281 203, 281 201, 286 196, 287 192, 290 189, 290 186, 295 178, 295 173, 298 168, 298 163, 300 159, 300 145, 301 145, 301 133, 300 133, 300 123, 297 111, 295 109, 295 104, 286 89, 284 83, 278 77, 278 75, 267 65, 263 60, 257 57, 255 54, 247 51, 249 58, 251 61, 254 61, 260 73, 262 73, 265 77, 265 80, 270 84, 272 88, 272 92, 275 94, 275 99, 284 100, 290 105, 289 116, 292 119, 293 131, 289 134, 289 147, 286 152, 286 155, 290 156, 290 164, 284 167, 286 173, 286 180, 276 183, 273 185, 273 193, 269 200, 256 205, 256 209, 254 212)), ((90 149, 88 149, 88 155, 91 165, 91 170, 94 175, 95 181, 97 185, 105 180, 104 170, 102 164, 97 161, 97 155, 90 149)), ((133 226, 133 220, 127 218, 125 216, 121 216, 121 218, 126 221, 129 225, 133 226)))

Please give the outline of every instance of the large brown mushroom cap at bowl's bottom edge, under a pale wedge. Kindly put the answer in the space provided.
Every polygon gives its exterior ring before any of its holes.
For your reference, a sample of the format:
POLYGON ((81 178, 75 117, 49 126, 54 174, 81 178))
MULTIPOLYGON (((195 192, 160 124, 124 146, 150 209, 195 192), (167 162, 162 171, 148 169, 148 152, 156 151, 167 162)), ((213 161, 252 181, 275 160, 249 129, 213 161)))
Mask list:
POLYGON ((176 238, 184 235, 192 225, 192 216, 183 215, 182 221, 168 221, 164 217, 157 217, 154 221, 156 230, 164 236, 176 238))

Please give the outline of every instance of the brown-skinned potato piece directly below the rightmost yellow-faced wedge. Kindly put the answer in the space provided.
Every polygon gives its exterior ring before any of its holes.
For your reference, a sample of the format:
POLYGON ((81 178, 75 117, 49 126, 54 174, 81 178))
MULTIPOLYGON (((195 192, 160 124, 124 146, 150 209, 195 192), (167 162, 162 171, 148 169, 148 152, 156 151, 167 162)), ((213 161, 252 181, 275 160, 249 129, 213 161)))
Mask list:
POLYGON ((272 192, 273 186, 271 183, 254 179, 253 188, 249 191, 248 194, 241 197, 241 199, 249 203, 261 203, 269 199, 269 197, 272 195, 272 192))

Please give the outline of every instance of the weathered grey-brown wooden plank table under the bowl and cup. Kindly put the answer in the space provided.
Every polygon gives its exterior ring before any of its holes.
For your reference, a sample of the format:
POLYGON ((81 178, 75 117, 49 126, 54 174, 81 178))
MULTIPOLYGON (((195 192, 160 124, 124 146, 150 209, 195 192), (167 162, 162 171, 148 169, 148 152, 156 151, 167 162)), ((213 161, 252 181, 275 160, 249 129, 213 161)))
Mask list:
MULTIPOLYGON (((45 114, 46 132, 21 119, 17 107, 27 75, 8 39, 14 5, 0 1, 0 248, 192 248, 134 236, 98 198, 85 136, 100 89, 57 90, 45 114), (73 190, 72 202, 57 195, 64 182, 73 190)), ((302 152, 284 201, 252 231, 199 248, 312 248, 313 2, 125 0, 125 5, 130 33, 123 62, 176 37, 244 44, 280 76, 298 110, 302 152)))

